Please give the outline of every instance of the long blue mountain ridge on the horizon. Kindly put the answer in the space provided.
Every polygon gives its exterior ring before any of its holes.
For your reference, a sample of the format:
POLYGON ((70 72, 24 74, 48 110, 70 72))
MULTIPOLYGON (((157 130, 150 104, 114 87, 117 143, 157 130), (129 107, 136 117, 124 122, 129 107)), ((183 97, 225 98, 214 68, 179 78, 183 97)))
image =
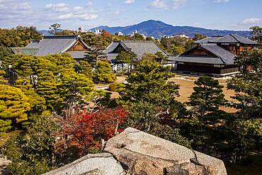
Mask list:
POLYGON ((245 37, 251 36, 250 31, 237 31, 237 30, 212 30, 207 28, 195 28, 191 26, 172 26, 161 21, 144 21, 142 23, 138 23, 132 26, 125 27, 108 27, 108 26, 99 26, 95 29, 103 29, 107 30, 109 33, 117 33, 122 32, 127 35, 137 30, 139 33, 143 33, 144 35, 154 36, 158 38, 161 35, 188 35, 193 37, 196 33, 200 33, 202 35, 212 36, 212 35, 229 35, 232 33, 236 33, 238 35, 242 35, 245 37))

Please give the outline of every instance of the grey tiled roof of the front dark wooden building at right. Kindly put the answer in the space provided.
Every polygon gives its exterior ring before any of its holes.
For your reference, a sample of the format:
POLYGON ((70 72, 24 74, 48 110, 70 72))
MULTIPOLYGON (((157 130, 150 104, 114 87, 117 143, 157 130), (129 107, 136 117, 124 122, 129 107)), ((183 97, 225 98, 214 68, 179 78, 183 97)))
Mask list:
POLYGON ((203 64, 234 64, 235 55, 232 52, 224 50, 218 45, 199 45, 197 47, 193 47, 191 50, 194 50, 196 48, 203 48, 204 50, 211 52, 214 57, 186 55, 186 53, 190 52, 190 50, 188 50, 182 55, 169 60, 173 60, 176 62, 195 62, 203 64))

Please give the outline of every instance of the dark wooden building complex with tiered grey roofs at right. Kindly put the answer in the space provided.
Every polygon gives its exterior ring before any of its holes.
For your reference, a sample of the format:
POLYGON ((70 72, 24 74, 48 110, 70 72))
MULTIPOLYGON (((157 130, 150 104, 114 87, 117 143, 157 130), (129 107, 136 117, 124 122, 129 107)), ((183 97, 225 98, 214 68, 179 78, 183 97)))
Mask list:
POLYGON ((177 72, 209 74, 214 77, 237 74, 240 67, 234 64, 234 57, 241 51, 251 50, 258 45, 255 41, 236 34, 208 37, 195 44, 197 46, 182 55, 169 58, 177 63, 177 72))

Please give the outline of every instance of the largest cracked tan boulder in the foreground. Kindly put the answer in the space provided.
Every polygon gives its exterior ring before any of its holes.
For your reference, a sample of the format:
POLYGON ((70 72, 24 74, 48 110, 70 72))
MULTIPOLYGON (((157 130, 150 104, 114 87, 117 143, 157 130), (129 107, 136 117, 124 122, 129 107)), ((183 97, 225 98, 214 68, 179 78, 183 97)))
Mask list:
POLYGON ((104 152, 113 154, 129 174, 227 174, 220 159, 133 128, 108 140, 104 152))

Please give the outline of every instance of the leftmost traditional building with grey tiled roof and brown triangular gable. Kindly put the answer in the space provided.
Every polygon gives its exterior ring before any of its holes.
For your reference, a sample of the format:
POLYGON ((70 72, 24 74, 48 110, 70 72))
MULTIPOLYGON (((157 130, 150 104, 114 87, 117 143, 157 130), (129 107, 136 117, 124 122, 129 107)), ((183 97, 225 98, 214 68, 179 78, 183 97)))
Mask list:
POLYGON ((15 54, 46 56, 69 53, 76 61, 84 58, 90 47, 81 40, 80 35, 45 36, 42 40, 32 40, 25 47, 13 47, 15 54))

